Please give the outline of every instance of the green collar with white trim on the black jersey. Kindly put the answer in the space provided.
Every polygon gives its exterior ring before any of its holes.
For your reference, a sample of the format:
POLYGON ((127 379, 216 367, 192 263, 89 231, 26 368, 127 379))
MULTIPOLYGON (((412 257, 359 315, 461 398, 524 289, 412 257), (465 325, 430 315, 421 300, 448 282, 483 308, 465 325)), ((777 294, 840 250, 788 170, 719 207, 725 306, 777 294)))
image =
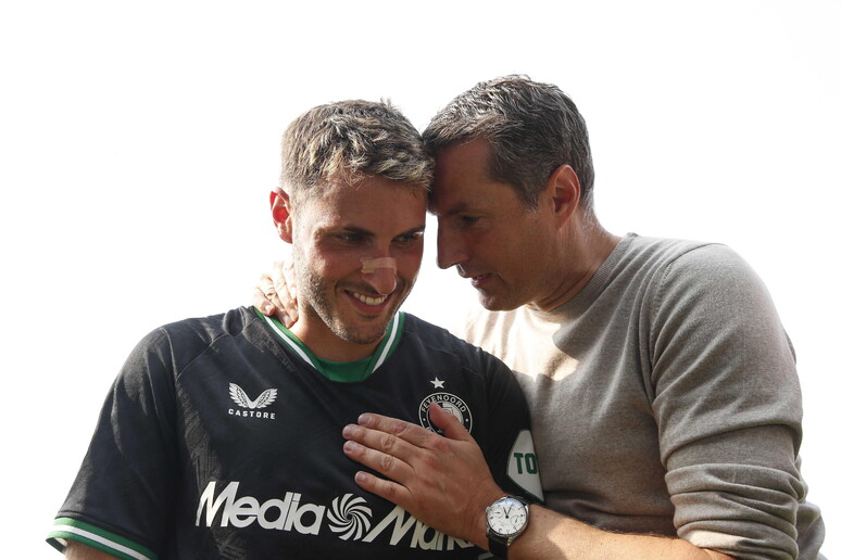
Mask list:
POLYGON ((403 335, 403 327, 405 324, 405 317, 403 311, 398 311, 394 317, 386 327, 386 334, 382 336, 382 341, 377 346, 377 349, 368 356, 357 361, 330 361, 322 359, 306 346, 301 340, 296 336, 292 331, 287 329, 274 317, 266 317, 259 309, 258 315, 272 328, 272 332, 275 333, 277 339, 284 346, 294 353, 299 358, 312 366, 322 376, 326 377, 330 381, 364 381, 372 373, 374 373, 391 354, 400 342, 403 335))

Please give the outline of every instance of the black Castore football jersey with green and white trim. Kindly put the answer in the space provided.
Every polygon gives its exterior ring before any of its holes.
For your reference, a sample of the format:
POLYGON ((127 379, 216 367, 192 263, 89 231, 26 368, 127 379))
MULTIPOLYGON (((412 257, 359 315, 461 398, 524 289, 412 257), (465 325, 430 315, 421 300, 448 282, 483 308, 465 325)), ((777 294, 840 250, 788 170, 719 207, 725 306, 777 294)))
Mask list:
POLYGON ((253 308, 147 335, 117 377, 49 542, 120 558, 470 558, 470 543, 362 491, 342 428, 362 412, 435 430, 438 403, 497 482, 540 498, 520 389, 497 358, 399 313, 361 381, 253 308))

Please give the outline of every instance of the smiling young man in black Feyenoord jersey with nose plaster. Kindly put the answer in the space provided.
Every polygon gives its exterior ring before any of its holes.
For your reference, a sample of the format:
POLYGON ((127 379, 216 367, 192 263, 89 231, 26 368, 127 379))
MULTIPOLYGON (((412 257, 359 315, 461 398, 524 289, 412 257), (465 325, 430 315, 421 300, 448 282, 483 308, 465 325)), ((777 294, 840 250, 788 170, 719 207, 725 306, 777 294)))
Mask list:
POLYGON ((95 559, 487 557, 360 489, 364 473, 342 451, 342 429, 377 411, 475 448, 477 480, 541 497, 511 371, 399 311, 421 265, 431 168, 388 103, 296 119, 271 202, 292 246, 298 322, 239 308, 143 339, 50 544, 95 559))

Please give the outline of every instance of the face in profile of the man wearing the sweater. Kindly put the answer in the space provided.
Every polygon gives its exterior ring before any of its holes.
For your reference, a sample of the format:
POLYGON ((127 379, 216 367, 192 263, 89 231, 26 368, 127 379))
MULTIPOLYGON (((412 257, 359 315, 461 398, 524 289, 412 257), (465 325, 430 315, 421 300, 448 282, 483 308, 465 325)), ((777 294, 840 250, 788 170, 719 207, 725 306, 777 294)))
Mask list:
POLYGON ((488 174, 484 140, 452 145, 436 158, 430 211, 438 216, 438 266, 456 266, 482 306, 541 306, 556 294, 557 226, 547 192, 527 208, 515 190, 488 174), (551 265, 551 266, 550 266, 551 265))

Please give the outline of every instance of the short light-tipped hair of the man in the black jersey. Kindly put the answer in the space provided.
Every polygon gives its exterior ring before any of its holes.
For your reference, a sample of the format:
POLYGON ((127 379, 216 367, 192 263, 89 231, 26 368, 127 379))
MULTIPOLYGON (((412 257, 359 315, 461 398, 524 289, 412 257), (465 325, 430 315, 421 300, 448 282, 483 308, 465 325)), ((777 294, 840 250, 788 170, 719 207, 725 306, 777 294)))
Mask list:
POLYGON ((428 190, 432 160, 417 129, 389 101, 340 101, 313 107, 287 127, 280 184, 290 196, 319 184, 379 176, 428 190))

